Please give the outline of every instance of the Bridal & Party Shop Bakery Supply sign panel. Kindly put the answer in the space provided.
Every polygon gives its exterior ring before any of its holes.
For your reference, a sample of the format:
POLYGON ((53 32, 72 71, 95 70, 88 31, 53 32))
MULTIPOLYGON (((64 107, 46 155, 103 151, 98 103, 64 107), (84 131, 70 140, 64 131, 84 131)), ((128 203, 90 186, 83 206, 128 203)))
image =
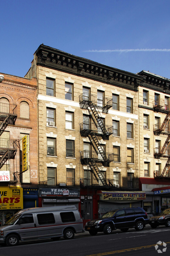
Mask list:
POLYGON ((121 193, 102 193, 101 200, 109 201, 135 201, 135 200, 145 200, 146 193, 139 192, 121 192, 121 193))

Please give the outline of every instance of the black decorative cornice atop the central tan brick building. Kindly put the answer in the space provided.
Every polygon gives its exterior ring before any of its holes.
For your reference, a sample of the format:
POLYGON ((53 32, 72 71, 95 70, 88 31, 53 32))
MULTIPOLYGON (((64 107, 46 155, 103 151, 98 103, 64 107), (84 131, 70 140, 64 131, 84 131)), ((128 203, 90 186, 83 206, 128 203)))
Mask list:
POLYGON ((36 55, 37 65, 86 77, 102 83, 135 91, 143 83, 143 77, 140 75, 105 66, 46 45, 40 45, 36 55))

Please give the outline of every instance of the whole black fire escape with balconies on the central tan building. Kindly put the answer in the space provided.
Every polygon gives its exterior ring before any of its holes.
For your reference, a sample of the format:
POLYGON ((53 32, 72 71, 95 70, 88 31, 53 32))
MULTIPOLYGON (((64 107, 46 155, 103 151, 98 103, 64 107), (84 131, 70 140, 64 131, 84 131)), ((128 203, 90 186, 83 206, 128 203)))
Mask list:
POLYGON ((103 177, 100 166, 109 166, 109 163, 113 161, 113 154, 105 152, 101 139, 109 140, 109 136, 113 133, 113 126, 106 126, 100 113, 108 113, 109 108, 112 107, 112 99, 102 98, 102 103, 100 100, 100 105, 98 106, 97 96, 82 93, 79 96, 79 101, 82 109, 89 109, 92 112, 91 120, 93 122, 81 123, 80 133, 81 136, 89 138, 94 149, 94 151, 84 150, 80 152, 81 163, 90 167, 90 171, 98 183, 107 186, 107 180, 103 177))

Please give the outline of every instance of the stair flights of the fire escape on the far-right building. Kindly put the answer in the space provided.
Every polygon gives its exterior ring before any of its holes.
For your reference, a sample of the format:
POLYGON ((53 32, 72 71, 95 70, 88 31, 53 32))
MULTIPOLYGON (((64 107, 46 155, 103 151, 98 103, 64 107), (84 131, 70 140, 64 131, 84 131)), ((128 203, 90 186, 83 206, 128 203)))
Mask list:
MULTIPOLYGON (((154 101, 154 105, 155 105, 155 101, 154 101)), ((162 109, 162 107, 163 107, 163 108, 165 107, 165 103, 164 103, 163 100, 161 100, 161 104, 160 104, 160 103, 159 103, 159 104, 156 104, 156 106, 155 106, 154 109, 156 109, 156 111, 158 112, 159 109, 162 109), (162 102, 163 102, 163 103, 162 103, 162 102)), ((166 129, 166 127, 167 127, 167 124, 168 124, 168 121, 170 120, 170 111, 169 111, 169 107, 166 107, 166 109, 163 109, 163 111, 164 111, 164 113, 166 112, 165 119, 164 119, 164 121, 163 121, 161 127, 160 127, 160 128, 158 127, 156 130, 154 130, 154 134, 155 134, 155 135, 158 135, 158 136, 159 136, 163 131, 165 131, 165 129, 166 129)), ((165 140, 165 143, 164 143, 162 149, 160 150, 159 148, 156 148, 156 149, 154 150, 154 157, 157 158, 157 159, 159 159, 160 157, 167 157, 166 152, 167 152, 167 150, 168 150, 168 148, 169 148, 169 145, 170 145, 170 132, 169 132, 169 130, 168 130, 168 137, 167 137, 167 139, 165 140)), ((168 152, 168 153, 169 153, 169 152, 168 152)), ((170 170, 170 155, 168 156, 168 160, 167 160, 167 162, 166 162, 166 164, 165 164, 165 167, 164 167, 164 169, 163 169, 161 175, 158 176, 158 175, 156 175, 156 173, 154 172, 154 177, 155 177, 155 178, 168 177, 169 175, 167 176, 167 174, 169 173, 169 170, 170 170)))

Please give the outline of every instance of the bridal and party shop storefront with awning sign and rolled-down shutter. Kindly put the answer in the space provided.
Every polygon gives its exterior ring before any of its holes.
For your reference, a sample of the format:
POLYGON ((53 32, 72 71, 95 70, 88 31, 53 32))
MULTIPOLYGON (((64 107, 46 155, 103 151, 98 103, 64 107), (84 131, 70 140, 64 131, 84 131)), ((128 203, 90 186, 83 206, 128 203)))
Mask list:
POLYGON ((103 191, 98 190, 100 195, 98 201, 99 217, 108 211, 123 207, 143 207, 146 193, 143 191, 103 191))

